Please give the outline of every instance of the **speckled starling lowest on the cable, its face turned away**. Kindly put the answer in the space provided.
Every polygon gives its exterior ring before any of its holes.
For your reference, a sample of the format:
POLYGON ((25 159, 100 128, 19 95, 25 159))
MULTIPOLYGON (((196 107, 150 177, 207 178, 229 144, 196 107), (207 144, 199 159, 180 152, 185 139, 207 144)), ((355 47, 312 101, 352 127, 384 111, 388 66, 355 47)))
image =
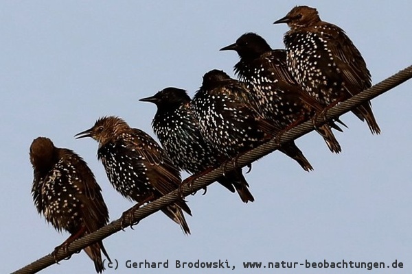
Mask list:
MULTIPOLYGON (((38 213, 59 232, 64 229, 71 234, 55 251, 108 223, 102 190, 79 155, 54 147, 49 138, 38 137, 30 146, 30 162, 34 170, 32 195, 38 213)), ((102 241, 84 251, 101 273, 104 265, 100 251, 110 260, 102 241)))

